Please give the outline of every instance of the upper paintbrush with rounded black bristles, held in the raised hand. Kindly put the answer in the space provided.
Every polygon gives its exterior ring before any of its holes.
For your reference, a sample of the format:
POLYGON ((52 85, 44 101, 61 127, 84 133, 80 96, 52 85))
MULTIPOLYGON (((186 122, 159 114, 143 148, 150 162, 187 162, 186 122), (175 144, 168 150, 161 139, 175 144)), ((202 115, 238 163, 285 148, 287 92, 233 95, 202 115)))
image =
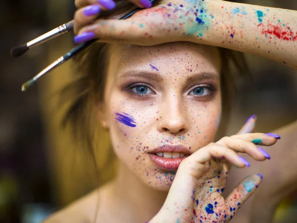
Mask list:
MULTIPOLYGON (((125 10, 131 8, 132 6, 133 6, 133 4, 127 0, 117 1, 114 9, 108 10, 108 11, 101 11, 98 18, 106 17, 106 16, 111 15, 115 12, 118 12, 119 10, 125 11, 125 10)), ((26 53, 30 48, 33 48, 33 47, 40 45, 42 43, 45 43, 53 38, 59 37, 59 36, 66 34, 70 31, 73 31, 73 24, 74 24, 74 20, 69 21, 69 22, 64 23, 64 24, 60 25, 59 27, 54 28, 54 29, 50 30, 49 32, 35 38, 34 40, 29 41, 26 44, 22 44, 17 47, 14 47, 11 49, 10 55, 12 57, 21 56, 24 53, 26 53)))

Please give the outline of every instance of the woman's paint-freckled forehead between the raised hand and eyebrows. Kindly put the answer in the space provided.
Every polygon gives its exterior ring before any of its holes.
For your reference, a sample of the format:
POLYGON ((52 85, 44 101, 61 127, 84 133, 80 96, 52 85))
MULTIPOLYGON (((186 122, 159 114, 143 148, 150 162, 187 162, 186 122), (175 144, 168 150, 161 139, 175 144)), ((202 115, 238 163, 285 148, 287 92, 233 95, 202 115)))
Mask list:
POLYGON ((114 45, 110 48, 109 74, 114 77, 131 70, 159 71, 159 75, 189 76, 194 73, 220 72, 220 56, 216 47, 189 42, 156 46, 114 45))

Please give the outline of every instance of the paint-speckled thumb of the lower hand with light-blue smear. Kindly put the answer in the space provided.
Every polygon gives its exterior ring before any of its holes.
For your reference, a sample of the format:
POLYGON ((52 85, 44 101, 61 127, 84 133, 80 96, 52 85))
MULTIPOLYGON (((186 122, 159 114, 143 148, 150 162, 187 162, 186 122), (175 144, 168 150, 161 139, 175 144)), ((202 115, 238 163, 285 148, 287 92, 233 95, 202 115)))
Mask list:
MULTIPOLYGON (((226 205, 229 206, 229 215, 226 214, 226 220, 232 219, 237 210, 247 201, 252 193, 261 183, 263 176, 258 173, 244 178, 226 198, 226 205)), ((228 221, 227 221, 228 222, 228 221)))

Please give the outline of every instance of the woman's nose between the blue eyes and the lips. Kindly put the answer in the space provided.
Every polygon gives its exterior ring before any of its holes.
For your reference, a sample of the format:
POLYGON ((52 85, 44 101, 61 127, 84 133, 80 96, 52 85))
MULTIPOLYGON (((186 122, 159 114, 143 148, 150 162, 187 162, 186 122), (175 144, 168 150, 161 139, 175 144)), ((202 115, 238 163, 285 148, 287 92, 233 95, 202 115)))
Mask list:
POLYGON ((159 120, 157 129, 160 132, 169 132, 171 134, 183 134, 189 129, 187 119, 187 108, 182 100, 177 98, 166 100, 162 103, 162 118, 159 120))

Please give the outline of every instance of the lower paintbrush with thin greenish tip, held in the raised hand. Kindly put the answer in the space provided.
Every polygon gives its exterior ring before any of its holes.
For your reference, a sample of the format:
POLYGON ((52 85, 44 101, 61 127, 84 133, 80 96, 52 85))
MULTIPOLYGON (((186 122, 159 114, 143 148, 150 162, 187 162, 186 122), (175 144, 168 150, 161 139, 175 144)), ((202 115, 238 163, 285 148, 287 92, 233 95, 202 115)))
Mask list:
MULTIPOLYGON (((156 0, 150 0, 151 2, 154 2, 156 0)), ((141 10, 142 8, 136 8, 134 10, 132 10, 131 12, 127 13, 126 15, 124 15, 123 17, 120 18, 120 20, 129 18, 130 16, 132 16, 134 13, 138 12, 139 10, 141 10)), ((36 76, 34 76, 31 80, 27 81, 26 83, 24 83, 22 85, 22 91, 26 91, 28 87, 30 87, 32 84, 34 84, 34 82, 40 78, 41 76, 43 76, 44 74, 48 73, 50 70, 52 70, 53 68, 61 65, 62 63, 66 62, 67 60, 71 59, 73 56, 77 55, 78 53, 80 53, 81 51, 83 51, 84 49, 88 48, 89 46, 91 46, 93 43, 95 43, 98 39, 95 40, 90 40, 88 42, 82 43, 80 45, 78 45, 76 48, 72 49, 70 52, 68 52, 67 54, 65 54, 64 56, 59 57, 58 59, 56 59, 54 62, 52 62, 51 64, 49 64, 49 66, 47 66, 45 69, 43 69, 40 73, 38 73, 36 76)))

